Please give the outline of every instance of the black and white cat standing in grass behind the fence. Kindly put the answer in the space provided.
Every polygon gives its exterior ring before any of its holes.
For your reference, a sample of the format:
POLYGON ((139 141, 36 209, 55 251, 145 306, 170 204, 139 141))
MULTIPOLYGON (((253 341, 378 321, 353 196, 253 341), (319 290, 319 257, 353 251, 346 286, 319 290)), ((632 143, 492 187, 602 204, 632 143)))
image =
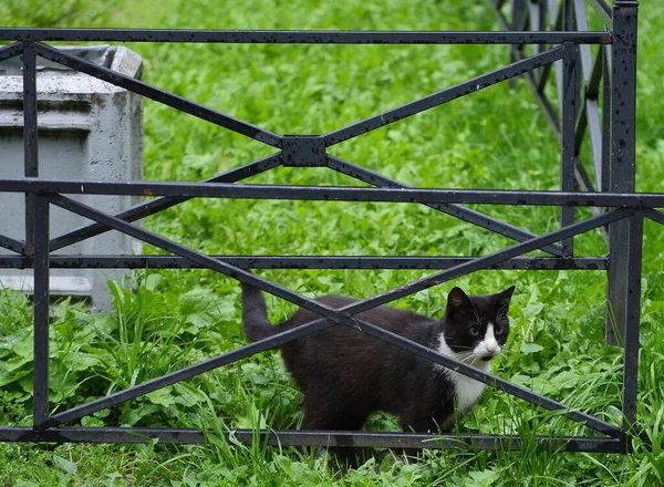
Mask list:
MULTIPOLYGON (((496 294, 468 296, 454 288, 442 320, 385 305, 357 318, 488 371, 509 333, 507 311, 513 290, 512 286, 496 294)), ((318 301, 335 309, 356 302, 336 296, 318 301)), ((242 321, 251 341, 319 318, 300 309, 273 327, 260 290, 242 284, 242 321)), ((477 403, 485 387, 343 324, 281 349, 286 366, 304 395, 304 429, 356 431, 372 411, 385 411, 396 414, 406 432, 447 433, 455 417, 477 403)))

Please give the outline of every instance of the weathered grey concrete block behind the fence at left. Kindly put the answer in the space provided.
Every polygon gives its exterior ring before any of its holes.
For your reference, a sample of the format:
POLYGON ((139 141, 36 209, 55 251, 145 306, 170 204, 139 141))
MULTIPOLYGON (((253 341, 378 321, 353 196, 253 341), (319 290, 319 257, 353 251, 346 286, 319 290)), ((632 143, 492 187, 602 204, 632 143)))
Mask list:
MULTIPOLYGON (((141 77, 142 59, 123 46, 65 48, 71 54, 141 77)), ((38 58, 39 175, 44 178, 123 180, 143 177, 143 102, 139 95, 38 58)), ((23 81, 21 59, 0 63, 0 177, 22 177, 23 81)), ((139 197, 75 197, 110 214, 139 203, 139 197)), ((51 208, 51 238, 91 222, 51 208)), ((24 196, 0 193, 0 234, 24 240, 24 196)), ((110 231, 58 250, 56 255, 131 255, 141 245, 110 231)), ((12 255, 0 248, 0 253, 12 255)), ((107 280, 123 269, 53 269, 51 293, 92 300, 94 310, 112 305, 107 280)), ((32 271, 0 269, 0 286, 30 292, 32 271)))

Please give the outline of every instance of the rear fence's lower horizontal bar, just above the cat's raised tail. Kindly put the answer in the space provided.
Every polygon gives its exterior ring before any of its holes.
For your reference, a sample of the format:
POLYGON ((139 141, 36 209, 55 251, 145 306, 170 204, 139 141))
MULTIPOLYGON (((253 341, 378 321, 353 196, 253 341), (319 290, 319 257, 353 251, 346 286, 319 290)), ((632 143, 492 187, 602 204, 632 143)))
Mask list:
MULTIPOLYGON (((449 269, 476 257, 394 256, 211 256, 240 269, 449 269)), ((31 260, 0 256, 0 268, 25 269, 31 260)), ((52 256, 52 269, 204 269, 183 257, 172 256, 52 256)), ((605 270, 605 257, 515 257, 487 269, 605 270)))

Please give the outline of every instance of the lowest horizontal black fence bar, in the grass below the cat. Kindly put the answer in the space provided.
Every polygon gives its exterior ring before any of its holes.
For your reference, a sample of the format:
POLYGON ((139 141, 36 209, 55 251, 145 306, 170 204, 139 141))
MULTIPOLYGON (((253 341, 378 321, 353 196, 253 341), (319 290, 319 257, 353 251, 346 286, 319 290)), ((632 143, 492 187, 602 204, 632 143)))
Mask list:
MULTIPOLYGON (((256 438, 251 429, 221 432, 250 445, 256 438)), ((35 431, 20 426, 0 426, 0 442, 46 442, 46 443, 159 443, 204 444, 206 435, 216 432, 201 432, 189 428, 145 428, 145 427, 59 427, 35 431)), ((387 432, 325 432, 325 431, 260 431, 261 444, 270 446, 325 446, 357 448, 427 448, 452 449, 469 447, 475 449, 520 449, 522 436, 510 435, 430 435, 418 433, 387 432)), ((624 443, 614 438, 596 436, 535 436, 539 450, 626 453, 624 443)))

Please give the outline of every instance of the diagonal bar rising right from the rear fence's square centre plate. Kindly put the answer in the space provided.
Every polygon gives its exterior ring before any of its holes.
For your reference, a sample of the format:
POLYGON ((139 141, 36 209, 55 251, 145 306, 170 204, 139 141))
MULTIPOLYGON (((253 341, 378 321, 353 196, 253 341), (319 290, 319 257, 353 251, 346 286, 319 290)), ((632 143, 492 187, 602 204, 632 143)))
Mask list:
POLYGON ((515 63, 508 64, 507 66, 491 71, 490 73, 483 74, 474 77, 473 80, 468 80, 455 86, 442 90, 415 102, 407 103, 400 107, 365 118, 361 122, 347 125, 343 128, 330 132, 324 135, 325 145, 331 146, 339 144, 340 142, 344 142, 367 132, 375 131, 376 128, 384 127, 385 125, 390 125, 400 120, 492 86, 501 81, 510 80, 542 65, 556 62, 557 60, 562 59, 562 54, 563 49, 561 46, 553 48, 549 51, 544 51, 540 54, 519 60, 515 63))

